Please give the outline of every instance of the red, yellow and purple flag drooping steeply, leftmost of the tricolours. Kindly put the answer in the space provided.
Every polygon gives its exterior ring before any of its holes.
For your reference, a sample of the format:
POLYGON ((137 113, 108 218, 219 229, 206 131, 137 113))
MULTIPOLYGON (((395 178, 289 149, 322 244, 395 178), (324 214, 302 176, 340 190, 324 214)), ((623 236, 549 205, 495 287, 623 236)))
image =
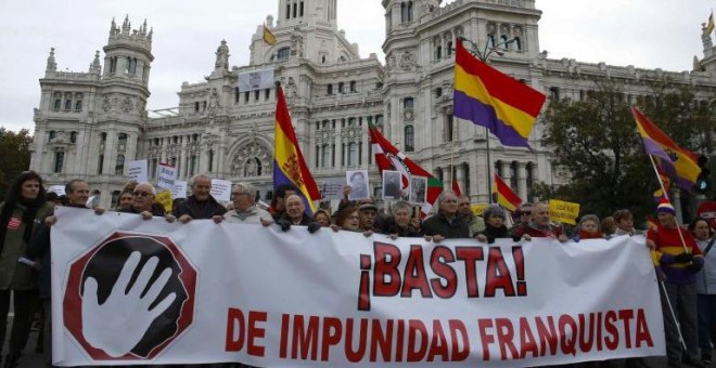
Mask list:
POLYGON ((298 195, 306 206, 306 213, 312 215, 316 211, 314 200, 321 198, 316 181, 310 174, 304 155, 301 153, 296 134, 291 124, 291 116, 286 107, 283 90, 277 89, 276 131, 273 137, 273 188, 281 184, 290 184, 298 189, 298 195))

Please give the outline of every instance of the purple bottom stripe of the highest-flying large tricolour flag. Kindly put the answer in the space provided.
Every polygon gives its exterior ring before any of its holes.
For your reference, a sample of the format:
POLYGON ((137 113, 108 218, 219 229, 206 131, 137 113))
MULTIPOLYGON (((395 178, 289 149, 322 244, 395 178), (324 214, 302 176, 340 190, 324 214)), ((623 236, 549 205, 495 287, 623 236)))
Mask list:
POLYGON ((452 98, 452 114, 456 118, 470 120, 477 126, 486 127, 500 140, 502 145, 529 148, 526 139, 497 118, 493 106, 472 98, 462 91, 455 91, 452 98))

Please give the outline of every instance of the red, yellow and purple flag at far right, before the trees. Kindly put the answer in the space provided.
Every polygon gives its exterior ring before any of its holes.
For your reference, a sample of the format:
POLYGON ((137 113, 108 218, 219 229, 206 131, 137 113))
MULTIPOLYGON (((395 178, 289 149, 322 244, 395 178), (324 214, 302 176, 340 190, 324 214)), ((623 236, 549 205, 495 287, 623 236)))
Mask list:
POLYGON ((681 188, 693 189, 693 185, 701 173, 696 155, 677 146, 656 124, 649 121, 638 108, 631 107, 631 114, 637 121, 639 135, 644 143, 644 152, 654 158, 659 171, 674 178, 674 183, 681 188))

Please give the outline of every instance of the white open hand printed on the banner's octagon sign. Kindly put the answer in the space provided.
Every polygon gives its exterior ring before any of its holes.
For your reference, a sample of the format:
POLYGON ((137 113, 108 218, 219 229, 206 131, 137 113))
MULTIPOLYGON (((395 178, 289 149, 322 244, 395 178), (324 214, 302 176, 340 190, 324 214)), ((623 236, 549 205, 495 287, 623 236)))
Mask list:
POLYGON ((172 292, 154 308, 149 308, 171 276, 169 267, 164 268, 146 294, 141 297, 159 262, 156 257, 146 261, 135 285, 125 293, 140 259, 141 253, 138 251, 129 255, 110 297, 102 305, 97 297, 97 280, 93 277, 85 280, 82 333, 87 342, 112 357, 120 357, 129 353, 142 340, 154 319, 177 298, 177 293, 172 292))

